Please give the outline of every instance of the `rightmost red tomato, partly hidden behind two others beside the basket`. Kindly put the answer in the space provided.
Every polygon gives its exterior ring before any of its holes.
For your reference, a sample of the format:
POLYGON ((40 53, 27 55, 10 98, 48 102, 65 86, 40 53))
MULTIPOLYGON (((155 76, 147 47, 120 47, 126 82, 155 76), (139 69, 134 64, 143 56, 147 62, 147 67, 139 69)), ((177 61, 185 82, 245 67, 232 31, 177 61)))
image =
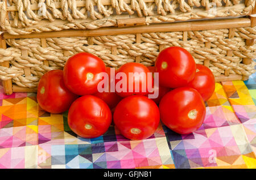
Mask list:
POLYGON ((204 65, 196 65, 195 78, 188 83, 188 86, 196 89, 203 100, 207 101, 215 89, 215 79, 212 71, 204 65))

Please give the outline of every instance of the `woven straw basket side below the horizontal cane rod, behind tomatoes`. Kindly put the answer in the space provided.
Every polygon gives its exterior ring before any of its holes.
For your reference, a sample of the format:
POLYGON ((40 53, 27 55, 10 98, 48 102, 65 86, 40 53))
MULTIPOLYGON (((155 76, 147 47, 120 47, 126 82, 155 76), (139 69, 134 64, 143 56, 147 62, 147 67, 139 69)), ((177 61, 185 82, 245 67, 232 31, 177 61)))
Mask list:
POLYGON ((135 62, 138 56, 143 65, 152 66, 159 46, 182 46, 193 55, 196 63, 203 64, 209 59, 209 68, 215 76, 224 74, 225 70, 245 76, 255 72, 254 62, 244 65, 241 61, 256 58, 256 45, 245 45, 245 40, 256 38, 256 27, 234 28, 232 38, 229 38, 229 29, 189 31, 187 36, 188 40, 183 41, 183 32, 142 33, 141 43, 137 43, 136 35, 46 38, 47 48, 42 47, 40 38, 8 39, 10 47, 0 49, 0 62, 9 61, 11 67, 0 66, 0 79, 12 79, 20 87, 35 88, 45 72, 62 69, 67 59, 79 52, 93 53, 109 67, 135 62), (205 42, 211 42, 211 48, 206 48, 205 42), (113 47, 116 47, 114 54, 113 47), (27 56, 22 55, 24 50, 27 56), (233 51, 232 56, 226 55, 228 50, 233 51), (49 66, 44 65, 44 60, 48 60, 49 66), (30 68, 31 76, 24 75, 24 68, 30 68))

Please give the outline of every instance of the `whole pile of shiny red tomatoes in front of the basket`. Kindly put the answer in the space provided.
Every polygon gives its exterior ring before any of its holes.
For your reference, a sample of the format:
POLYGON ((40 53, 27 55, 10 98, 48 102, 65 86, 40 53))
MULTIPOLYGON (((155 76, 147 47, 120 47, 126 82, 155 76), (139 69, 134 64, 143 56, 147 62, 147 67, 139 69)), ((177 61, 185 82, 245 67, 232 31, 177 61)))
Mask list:
POLYGON ((113 122, 127 139, 141 140, 154 134, 160 120, 179 134, 196 131, 214 88, 212 71, 196 64, 187 50, 172 46, 159 53, 155 66, 131 62, 118 70, 93 54, 75 54, 63 70, 42 76, 37 98, 49 113, 68 110, 68 125, 82 138, 103 135, 113 122), (124 78, 131 72, 132 81, 124 78))

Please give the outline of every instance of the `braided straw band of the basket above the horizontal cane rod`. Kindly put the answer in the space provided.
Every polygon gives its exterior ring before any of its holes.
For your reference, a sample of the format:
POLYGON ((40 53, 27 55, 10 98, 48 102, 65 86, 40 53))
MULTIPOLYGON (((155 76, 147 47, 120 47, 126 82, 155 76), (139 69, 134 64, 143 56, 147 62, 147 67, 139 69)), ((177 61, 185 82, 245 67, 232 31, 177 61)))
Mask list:
POLYGON ((0 24, 11 35, 27 35, 117 26, 122 14, 130 15, 129 18, 144 17, 146 24, 224 18, 250 15, 255 1, 247 0, 245 4, 238 0, 8 0, 8 6, 5 1, 0 3, 0 24), (216 11, 212 11, 213 7, 216 11))

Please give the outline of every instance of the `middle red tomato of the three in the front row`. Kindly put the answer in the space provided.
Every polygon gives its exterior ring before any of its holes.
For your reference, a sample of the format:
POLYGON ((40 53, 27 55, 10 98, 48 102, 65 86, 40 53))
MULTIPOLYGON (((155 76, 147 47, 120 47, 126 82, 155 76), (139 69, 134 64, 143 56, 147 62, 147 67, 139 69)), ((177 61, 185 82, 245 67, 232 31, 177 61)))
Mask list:
POLYGON ((150 137, 159 121, 158 106, 146 96, 125 97, 115 107, 114 124, 127 139, 141 140, 150 137))

